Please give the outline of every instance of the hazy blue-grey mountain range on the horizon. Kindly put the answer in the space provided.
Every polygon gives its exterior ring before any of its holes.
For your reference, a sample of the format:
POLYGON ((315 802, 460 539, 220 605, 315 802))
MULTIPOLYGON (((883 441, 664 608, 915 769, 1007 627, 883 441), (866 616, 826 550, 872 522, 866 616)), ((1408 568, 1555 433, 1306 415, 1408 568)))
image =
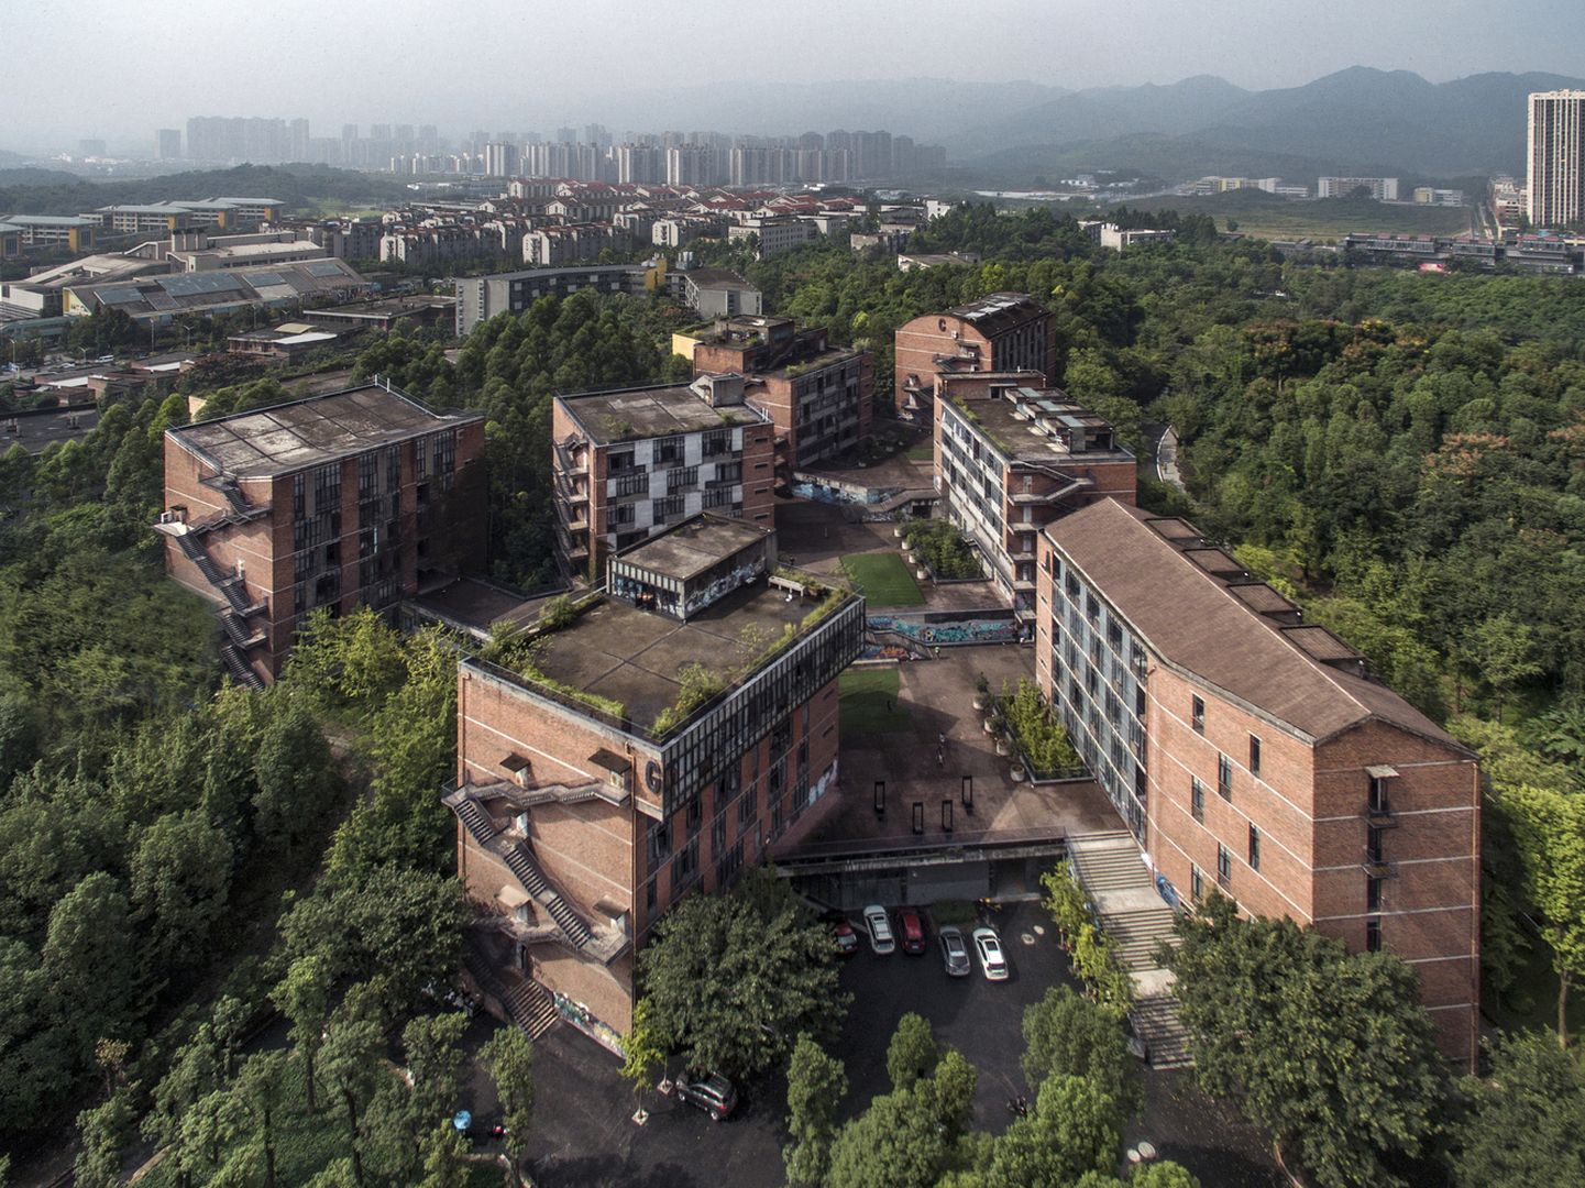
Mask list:
POLYGON ((713 84, 613 94, 601 117, 620 127, 663 121, 751 135, 888 128, 946 144, 953 163, 973 174, 1008 179, 1132 168, 1171 179, 1281 174, 1314 186, 1311 174, 1333 171, 1518 173, 1525 95, 1555 87, 1585 87, 1585 79, 1488 73, 1426 82, 1406 70, 1350 67, 1274 90, 1209 75, 1086 90, 934 78, 713 84))

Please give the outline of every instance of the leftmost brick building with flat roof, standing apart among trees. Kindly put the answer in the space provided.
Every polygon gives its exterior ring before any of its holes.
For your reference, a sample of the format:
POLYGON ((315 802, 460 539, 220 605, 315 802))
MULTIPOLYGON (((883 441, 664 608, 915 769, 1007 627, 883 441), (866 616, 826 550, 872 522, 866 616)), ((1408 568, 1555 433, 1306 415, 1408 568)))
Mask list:
POLYGON ((257 687, 314 607, 385 609, 482 568, 483 479, 483 417, 366 384, 166 430, 155 528, 257 687))

